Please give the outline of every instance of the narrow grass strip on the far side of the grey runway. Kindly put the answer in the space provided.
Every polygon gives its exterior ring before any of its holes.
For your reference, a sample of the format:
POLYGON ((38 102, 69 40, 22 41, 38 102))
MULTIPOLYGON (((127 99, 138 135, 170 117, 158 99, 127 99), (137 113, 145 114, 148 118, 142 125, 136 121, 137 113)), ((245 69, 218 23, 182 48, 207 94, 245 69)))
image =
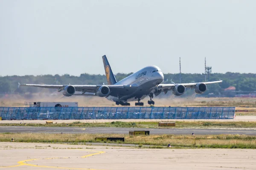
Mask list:
MULTIPOLYGON (((72 123, 39 124, 39 123, 0 123, 0 126, 32 126, 32 127, 141 127, 159 128, 158 122, 106 122, 106 123, 72 123)), ((228 128, 256 128, 256 122, 175 122, 175 127, 228 127, 228 128)), ((171 127, 170 127, 171 128, 171 127)))

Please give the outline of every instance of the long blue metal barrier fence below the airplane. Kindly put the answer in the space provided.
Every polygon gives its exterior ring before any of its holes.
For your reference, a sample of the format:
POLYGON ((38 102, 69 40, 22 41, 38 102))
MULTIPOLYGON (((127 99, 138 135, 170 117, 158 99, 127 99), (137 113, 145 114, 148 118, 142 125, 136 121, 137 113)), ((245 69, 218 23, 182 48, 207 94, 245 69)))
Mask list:
POLYGON ((3 120, 234 119, 235 107, 0 107, 3 120))

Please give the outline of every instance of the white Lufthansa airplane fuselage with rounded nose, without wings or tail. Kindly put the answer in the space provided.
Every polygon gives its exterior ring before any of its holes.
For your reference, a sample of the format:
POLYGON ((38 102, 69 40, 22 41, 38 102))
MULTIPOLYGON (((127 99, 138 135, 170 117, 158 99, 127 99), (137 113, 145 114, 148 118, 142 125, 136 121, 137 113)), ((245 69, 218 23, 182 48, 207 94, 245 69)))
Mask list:
MULTIPOLYGON (((134 74, 122 79, 115 85, 135 85, 137 86, 137 91, 133 94, 127 96, 122 96, 121 101, 129 102, 136 101, 139 99, 144 99, 152 89, 163 82, 163 72, 157 66, 148 66, 134 74)), ((107 99, 117 102, 120 98, 115 96, 108 96, 107 99)))

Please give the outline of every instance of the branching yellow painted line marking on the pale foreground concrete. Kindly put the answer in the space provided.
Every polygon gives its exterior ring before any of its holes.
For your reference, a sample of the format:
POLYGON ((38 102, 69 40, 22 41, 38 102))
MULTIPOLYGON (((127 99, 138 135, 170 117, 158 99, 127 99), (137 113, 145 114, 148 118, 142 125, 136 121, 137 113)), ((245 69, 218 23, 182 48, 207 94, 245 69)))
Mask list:
MULTIPOLYGON (((85 150, 85 149, 76 149, 76 150, 85 150)), ((97 151, 97 150, 85 150, 85 151, 96 152, 96 153, 92 153, 92 154, 89 154, 89 155, 81 156, 81 158, 86 158, 86 157, 89 157, 89 156, 105 153, 104 151, 97 151)), ((64 158, 55 157, 55 158, 45 158, 45 159, 67 159, 67 157, 64 157, 64 158)), ((28 161, 35 161, 35 160, 39 160, 39 159, 27 159, 27 160, 24 160, 24 161, 18 161, 17 165, 12 165, 12 166, 7 166, 7 167, 0 167, 0 168, 19 167, 19 166, 25 165, 25 166, 31 166, 31 167, 45 167, 45 168, 56 168, 56 169, 96 170, 96 169, 91 169, 91 168, 51 167, 51 166, 42 166, 42 165, 35 165, 35 164, 28 164, 28 163, 26 163, 28 161)))

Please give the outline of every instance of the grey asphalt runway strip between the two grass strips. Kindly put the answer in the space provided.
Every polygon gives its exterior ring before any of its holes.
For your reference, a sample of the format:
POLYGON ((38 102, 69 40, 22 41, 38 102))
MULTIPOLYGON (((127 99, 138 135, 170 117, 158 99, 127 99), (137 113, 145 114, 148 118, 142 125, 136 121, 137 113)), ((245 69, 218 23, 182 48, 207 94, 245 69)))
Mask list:
POLYGON ((149 130, 150 134, 175 134, 175 135, 220 135, 239 134, 256 135, 253 129, 199 129, 199 128, 122 128, 122 127, 24 127, 0 126, 0 133, 113 133, 128 134, 130 130, 149 130))

